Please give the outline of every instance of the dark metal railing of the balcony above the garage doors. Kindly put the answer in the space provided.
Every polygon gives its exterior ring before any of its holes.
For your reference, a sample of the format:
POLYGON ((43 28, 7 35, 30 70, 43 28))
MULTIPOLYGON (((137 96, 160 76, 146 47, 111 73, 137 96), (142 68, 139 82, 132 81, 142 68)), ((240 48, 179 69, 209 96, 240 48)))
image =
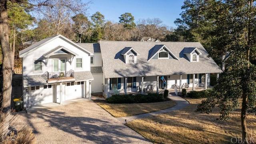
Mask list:
POLYGON ((69 70, 68 72, 45 72, 42 74, 45 80, 60 80, 66 78, 74 78, 74 70, 69 70))

